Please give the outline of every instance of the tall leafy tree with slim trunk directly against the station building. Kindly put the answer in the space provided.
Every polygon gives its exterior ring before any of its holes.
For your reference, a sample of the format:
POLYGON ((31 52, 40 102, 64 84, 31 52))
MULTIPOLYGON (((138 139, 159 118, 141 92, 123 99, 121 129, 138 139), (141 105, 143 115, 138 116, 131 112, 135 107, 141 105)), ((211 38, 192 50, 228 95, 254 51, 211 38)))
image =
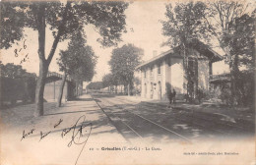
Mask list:
POLYGON ((195 39, 203 38, 204 28, 201 27, 206 5, 203 2, 177 3, 173 9, 171 4, 166 6, 166 21, 162 23, 162 34, 168 39, 163 45, 170 46, 183 56, 187 92, 197 97, 197 75, 189 65, 189 48, 195 39))

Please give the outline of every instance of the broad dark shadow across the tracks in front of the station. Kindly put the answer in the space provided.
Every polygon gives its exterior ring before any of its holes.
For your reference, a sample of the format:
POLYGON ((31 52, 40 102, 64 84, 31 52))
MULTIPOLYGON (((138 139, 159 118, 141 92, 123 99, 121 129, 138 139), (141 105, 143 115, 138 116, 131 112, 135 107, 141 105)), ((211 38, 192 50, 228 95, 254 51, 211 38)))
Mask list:
MULTIPOLYGON (((105 106, 103 109, 113 119, 113 124, 119 132, 128 132, 127 127, 122 127, 121 123, 118 122, 118 119, 121 119, 143 138, 151 138, 154 141, 179 137, 163 131, 160 127, 130 112, 189 139, 228 139, 254 136, 254 123, 245 120, 240 121, 239 119, 233 121, 218 114, 170 109, 145 102, 138 104, 119 103, 105 106)), ((137 137, 135 134, 128 135, 128 137, 132 136, 137 137)))

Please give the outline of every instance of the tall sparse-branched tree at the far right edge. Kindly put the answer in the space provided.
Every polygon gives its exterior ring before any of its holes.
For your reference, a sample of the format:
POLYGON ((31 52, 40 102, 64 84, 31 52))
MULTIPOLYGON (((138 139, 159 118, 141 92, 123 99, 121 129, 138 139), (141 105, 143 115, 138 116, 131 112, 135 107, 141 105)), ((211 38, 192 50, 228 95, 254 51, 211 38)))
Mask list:
POLYGON ((254 71, 255 10, 250 4, 238 1, 217 1, 208 4, 204 27, 211 38, 219 41, 224 50, 231 77, 231 105, 240 104, 242 81, 239 67, 245 65, 254 71))

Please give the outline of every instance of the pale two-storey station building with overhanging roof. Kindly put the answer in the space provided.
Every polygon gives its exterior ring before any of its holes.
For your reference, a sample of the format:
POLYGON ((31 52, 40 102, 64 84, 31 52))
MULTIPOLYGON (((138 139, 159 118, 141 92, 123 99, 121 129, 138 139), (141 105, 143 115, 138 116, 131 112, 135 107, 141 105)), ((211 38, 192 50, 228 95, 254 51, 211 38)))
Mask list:
POLYGON ((209 91, 213 63, 222 56, 198 40, 190 44, 188 54, 184 58, 177 50, 169 50, 139 65, 141 96, 166 99, 170 89, 175 89, 176 96, 183 98, 184 94, 195 97, 198 89, 209 91), (189 75, 193 75, 193 81, 188 82, 189 75))

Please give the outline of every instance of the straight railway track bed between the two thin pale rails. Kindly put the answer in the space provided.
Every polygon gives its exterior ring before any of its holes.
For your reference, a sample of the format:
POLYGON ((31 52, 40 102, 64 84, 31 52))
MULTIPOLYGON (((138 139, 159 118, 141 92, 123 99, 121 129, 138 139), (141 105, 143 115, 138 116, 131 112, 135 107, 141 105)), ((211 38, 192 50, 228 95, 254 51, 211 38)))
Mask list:
POLYGON ((147 138, 149 135, 149 133, 147 134, 145 130, 151 129, 155 132, 154 135, 156 136, 163 135, 169 138, 171 137, 172 139, 178 139, 190 143, 192 142, 191 139, 185 138, 184 136, 167 129, 150 119, 147 119, 131 111, 124 110, 123 107, 115 105, 115 103, 113 101, 110 101, 109 99, 106 100, 101 98, 100 100, 101 102, 96 103, 100 107, 100 109, 108 116, 109 120, 112 121, 115 126, 116 124, 118 125, 118 123, 122 123, 126 127, 126 129, 124 129, 121 126, 117 126, 117 130, 120 131, 121 129, 123 129, 121 133, 123 137, 126 138, 128 141, 131 141, 130 138, 134 136, 144 140, 144 138, 147 138), (107 108, 109 106, 113 106, 115 109, 113 107, 111 109, 107 108), (132 136, 132 134, 134 136, 132 136))

